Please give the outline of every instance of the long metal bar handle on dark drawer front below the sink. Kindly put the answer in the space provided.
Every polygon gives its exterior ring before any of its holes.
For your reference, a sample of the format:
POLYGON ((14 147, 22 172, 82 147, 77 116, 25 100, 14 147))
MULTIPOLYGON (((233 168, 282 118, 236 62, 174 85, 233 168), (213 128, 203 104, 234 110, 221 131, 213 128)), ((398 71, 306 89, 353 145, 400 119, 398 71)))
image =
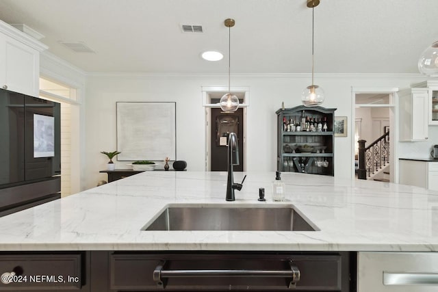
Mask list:
POLYGON ((166 261, 162 261, 153 271, 153 280, 160 288, 166 287, 167 278, 188 277, 283 277, 292 278, 288 288, 295 289, 296 282, 300 280, 300 270, 293 261, 289 261, 290 269, 266 270, 266 269, 164 269, 166 261))

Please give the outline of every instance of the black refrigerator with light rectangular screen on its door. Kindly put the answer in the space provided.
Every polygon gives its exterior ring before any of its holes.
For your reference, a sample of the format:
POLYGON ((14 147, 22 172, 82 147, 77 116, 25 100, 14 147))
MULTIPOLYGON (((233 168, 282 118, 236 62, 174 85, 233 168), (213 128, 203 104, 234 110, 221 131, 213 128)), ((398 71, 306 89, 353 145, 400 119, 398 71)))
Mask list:
POLYGON ((0 89, 0 216, 60 198, 60 104, 0 89))

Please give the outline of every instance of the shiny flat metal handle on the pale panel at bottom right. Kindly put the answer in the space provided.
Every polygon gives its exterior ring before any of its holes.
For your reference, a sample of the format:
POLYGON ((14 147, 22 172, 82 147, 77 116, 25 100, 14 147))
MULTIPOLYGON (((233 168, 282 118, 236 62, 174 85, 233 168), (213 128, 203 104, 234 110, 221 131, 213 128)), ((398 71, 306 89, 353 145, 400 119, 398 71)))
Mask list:
POLYGON ((437 273, 383 271, 384 285, 438 285, 437 273))

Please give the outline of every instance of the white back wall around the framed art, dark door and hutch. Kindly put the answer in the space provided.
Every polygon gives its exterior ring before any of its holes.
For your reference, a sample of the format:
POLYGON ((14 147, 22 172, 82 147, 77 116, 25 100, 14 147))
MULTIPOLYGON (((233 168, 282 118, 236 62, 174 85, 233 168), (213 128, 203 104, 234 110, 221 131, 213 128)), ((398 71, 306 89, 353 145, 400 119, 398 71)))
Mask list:
MULTIPOLYGON (((316 83, 326 93, 324 107, 335 107, 336 116, 348 117, 348 137, 335 140, 335 176, 352 176, 351 140, 352 87, 408 88, 424 80, 420 75, 324 75, 316 83)), ((276 168, 276 114, 285 107, 300 105, 309 75, 231 76, 232 86, 250 88, 247 114, 247 170, 276 168)), ((116 101, 175 101, 177 103, 177 158, 188 162, 188 170, 205 170, 205 109, 202 86, 227 85, 226 75, 90 75, 86 87, 85 187, 107 179, 99 170, 106 167, 102 150, 116 150, 116 101)), ((352 123, 354 124, 354 122, 352 123)), ((438 133, 437 133, 438 139, 438 133)), ((432 139, 431 139, 432 140, 432 139)), ((430 144, 430 143, 429 143, 430 144)), ((405 150, 400 147, 400 150, 405 150)), ((402 155, 405 153, 401 153, 402 155)), ((164 157, 163 157, 164 158, 164 157)), ((145 157, 147 159, 147 157, 145 157)), ((116 168, 127 168, 116 161, 116 168)))

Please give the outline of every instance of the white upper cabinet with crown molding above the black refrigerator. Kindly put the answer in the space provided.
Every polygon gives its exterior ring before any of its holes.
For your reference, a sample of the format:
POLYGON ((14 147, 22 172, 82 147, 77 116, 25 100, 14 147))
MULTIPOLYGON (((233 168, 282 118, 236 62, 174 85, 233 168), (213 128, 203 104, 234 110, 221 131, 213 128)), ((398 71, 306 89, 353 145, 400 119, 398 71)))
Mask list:
POLYGON ((0 21, 0 88, 38 96, 44 49, 44 44, 0 21))

